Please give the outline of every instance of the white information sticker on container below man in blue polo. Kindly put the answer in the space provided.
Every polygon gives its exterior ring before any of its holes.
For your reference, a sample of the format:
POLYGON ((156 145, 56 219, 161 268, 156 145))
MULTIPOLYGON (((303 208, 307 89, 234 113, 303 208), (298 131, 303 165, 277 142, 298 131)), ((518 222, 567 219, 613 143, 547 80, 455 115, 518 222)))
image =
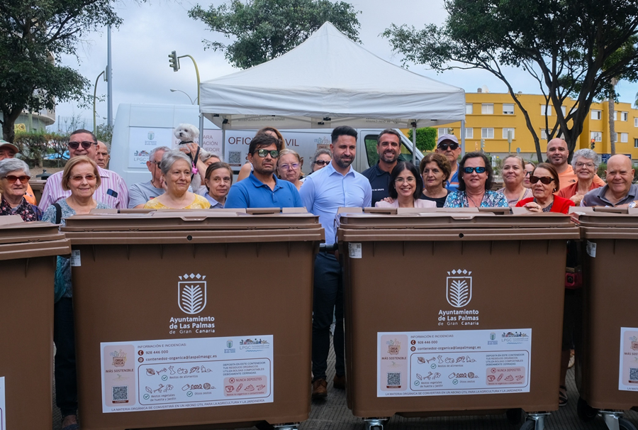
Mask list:
POLYGON ((102 412, 272 403, 272 338, 101 343, 102 412))

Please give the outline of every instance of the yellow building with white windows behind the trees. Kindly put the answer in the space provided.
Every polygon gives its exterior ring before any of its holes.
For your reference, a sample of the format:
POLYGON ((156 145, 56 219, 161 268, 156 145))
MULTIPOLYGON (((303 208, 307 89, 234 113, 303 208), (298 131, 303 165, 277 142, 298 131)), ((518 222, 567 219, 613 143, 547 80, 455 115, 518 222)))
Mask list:
MULTIPOLYGON (((516 94, 516 97, 530 114, 530 121, 540 138, 541 151, 544 154, 547 149, 544 97, 537 94, 516 94)), ((562 109, 565 111, 572 106, 573 100, 568 98, 562 109)), ((547 112, 547 121, 551 130, 556 123, 554 107, 548 106, 547 112)), ((615 117, 616 153, 631 155, 632 160, 638 160, 638 109, 632 109, 631 104, 628 103, 617 103, 615 117)), ((532 133, 527 129, 525 116, 510 94, 466 93, 465 122, 466 151, 480 149, 481 140, 483 140, 483 150, 491 155, 502 156, 510 152, 515 153, 516 149, 520 148, 520 153, 525 158, 536 159, 532 133), (508 133, 512 133, 511 145, 508 145, 508 133)), ((449 128, 460 140, 461 123, 439 127, 439 135, 447 133, 449 128)), ((597 153, 603 155, 611 152, 607 101, 591 105, 576 149, 590 148, 592 138, 595 140, 594 150, 597 153)))

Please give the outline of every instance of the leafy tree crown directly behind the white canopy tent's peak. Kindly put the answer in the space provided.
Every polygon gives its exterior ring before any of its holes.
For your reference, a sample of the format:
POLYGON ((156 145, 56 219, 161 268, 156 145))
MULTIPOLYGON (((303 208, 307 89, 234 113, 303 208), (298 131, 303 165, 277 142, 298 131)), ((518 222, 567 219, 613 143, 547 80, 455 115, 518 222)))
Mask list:
POLYGON ((202 40, 207 48, 223 51, 235 67, 247 69, 267 62, 306 40, 314 31, 330 21, 342 33, 359 42, 358 11, 344 1, 330 0, 232 0, 208 10, 196 5, 189 11, 226 38, 228 45, 202 40))

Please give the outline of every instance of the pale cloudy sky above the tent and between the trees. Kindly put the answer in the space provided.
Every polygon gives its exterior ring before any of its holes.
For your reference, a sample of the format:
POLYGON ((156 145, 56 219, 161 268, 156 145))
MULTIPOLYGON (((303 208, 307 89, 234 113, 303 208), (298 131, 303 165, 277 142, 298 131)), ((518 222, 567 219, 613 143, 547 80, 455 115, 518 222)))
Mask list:
MULTIPOLYGON (((211 4, 218 6, 222 2, 201 1, 200 4, 208 9, 211 4)), ((189 54, 196 59, 202 81, 236 71, 225 60, 223 53, 204 50, 202 39, 223 42, 225 38, 208 31, 201 21, 189 18, 189 9, 197 3, 195 0, 150 0, 146 3, 125 0, 118 4, 118 14, 123 18, 123 24, 111 33, 113 118, 121 103, 190 103, 186 95, 170 92, 170 89, 180 89, 192 99, 196 98, 196 76, 192 62, 187 58, 181 59, 181 69, 174 72, 168 62, 172 50, 176 50, 177 55, 189 54)), ((352 4, 361 11, 359 35, 364 48, 397 65, 401 64, 401 55, 394 55, 388 40, 381 38, 379 33, 391 23, 422 28, 425 23, 440 24, 446 16, 441 0, 359 0, 352 1, 352 4)), ((106 69, 106 28, 87 35, 78 53, 79 62, 68 56, 60 61, 79 70, 91 81, 92 89, 96 77, 101 70, 106 69)), ((437 74, 420 65, 413 65, 410 70, 461 87, 466 92, 476 92, 483 85, 490 92, 507 91, 505 85, 488 72, 455 70, 437 74)), ((525 72, 510 70, 508 76, 515 92, 539 93, 537 84, 525 72)), ((106 82, 100 79, 97 89, 97 94, 105 99, 98 102, 97 114, 98 117, 106 117, 106 82)), ((621 82, 618 92, 620 101, 632 103, 638 92, 638 84, 621 82)), ((92 111, 79 109, 74 103, 58 104, 56 114, 62 117, 82 116, 86 118, 87 126, 92 123, 92 111)))

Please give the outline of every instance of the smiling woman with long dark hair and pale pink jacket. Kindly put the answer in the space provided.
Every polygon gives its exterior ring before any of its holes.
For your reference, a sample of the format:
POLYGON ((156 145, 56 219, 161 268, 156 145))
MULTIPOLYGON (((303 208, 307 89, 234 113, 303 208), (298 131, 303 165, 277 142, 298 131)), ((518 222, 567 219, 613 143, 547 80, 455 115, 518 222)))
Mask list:
POLYGON ((400 161, 392 169, 388 194, 390 202, 379 200, 375 207, 437 207, 435 202, 420 199, 423 182, 411 162, 400 161))

